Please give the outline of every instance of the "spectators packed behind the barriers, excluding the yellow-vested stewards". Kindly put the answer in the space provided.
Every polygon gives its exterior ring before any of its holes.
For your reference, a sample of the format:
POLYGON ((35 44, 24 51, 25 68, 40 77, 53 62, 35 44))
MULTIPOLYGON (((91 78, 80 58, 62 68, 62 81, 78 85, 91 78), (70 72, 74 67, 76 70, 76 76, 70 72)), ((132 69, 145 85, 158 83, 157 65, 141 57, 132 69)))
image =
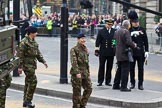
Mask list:
MULTIPOLYGON (((61 21, 61 15, 59 13, 51 13, 51 14, 45 14, 42 17, 33 15, 30 18, 30 22, 35 27, 41 27, 45 26, 47 24, 48 18, 52 19, 53 26, 59 27, 60 21, 61 21)), ((82 26, 90 26, 90 25, 96 25, 96 24, 105 24, 104 19, 113 18, 115 19, 116 24, 121 24, 125 16, 123 15, 86 15, 86 14, 72 14, 68 18, 68 24, 69 26, 73 26, 73 23, 76 21, 77 27, 82 26)))

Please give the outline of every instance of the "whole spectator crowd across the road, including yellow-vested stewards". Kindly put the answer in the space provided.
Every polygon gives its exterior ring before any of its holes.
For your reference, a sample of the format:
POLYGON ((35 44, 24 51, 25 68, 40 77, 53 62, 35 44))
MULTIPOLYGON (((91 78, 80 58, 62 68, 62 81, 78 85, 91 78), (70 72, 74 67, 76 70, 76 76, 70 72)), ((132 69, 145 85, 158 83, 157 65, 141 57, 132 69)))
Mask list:
MULTIPOLYGON (((69 28, 69 34, 74 34, 75 36, 80 32, 81 29, 90 29, 91 35, 95 34, 95 27, 102 26, 105 24, 105 19, 112 18, 114 19, 114 25, 113 28, 118 29, 120 28, 121 22, 125 19, 124 15, 118 14, 118 15, 86 15, 86 14, 69 14, 68 17, 68 27, 69 28)), ((21 15, 21 19, 26 19, 24 15, 21 15)), ((59 13, 51 13, 51 14, 45 14, 43 16, 37 16, 33 14, 30 18, 29 24, 37 27, 37 28, 43 28, 42 31, 47 30, 49 36, 56 36, 60 32, 60 24, 61 24, 61 15, 59 13), (45 30, 44 30, 45 29, 45 30)), ((41 31, 41 32, 42 32, 41 31)), ((44 33, 46 34, 46 33, 44 33)))

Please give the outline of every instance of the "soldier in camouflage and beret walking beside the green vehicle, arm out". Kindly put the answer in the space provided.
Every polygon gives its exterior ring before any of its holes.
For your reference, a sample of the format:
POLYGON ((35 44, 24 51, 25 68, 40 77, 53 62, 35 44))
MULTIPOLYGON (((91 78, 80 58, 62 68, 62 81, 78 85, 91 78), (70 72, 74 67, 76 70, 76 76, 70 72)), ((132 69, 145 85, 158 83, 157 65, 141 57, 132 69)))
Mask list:
POLYGON ((37 35, 37 28, 28 27, 28 36, 22 39, 19 45, 18 57, 20 58, 19 73, 24 71, 25 86, 24 86, 24 103, 23 107, 34 108, 32 105, 33 94, 37 85, 37 77, 35 75, 35 69, 37 68, 37 60, 45 65, 48 65, 43 59, 43 56, 39 50, 38 43, 35 41, 37 35))

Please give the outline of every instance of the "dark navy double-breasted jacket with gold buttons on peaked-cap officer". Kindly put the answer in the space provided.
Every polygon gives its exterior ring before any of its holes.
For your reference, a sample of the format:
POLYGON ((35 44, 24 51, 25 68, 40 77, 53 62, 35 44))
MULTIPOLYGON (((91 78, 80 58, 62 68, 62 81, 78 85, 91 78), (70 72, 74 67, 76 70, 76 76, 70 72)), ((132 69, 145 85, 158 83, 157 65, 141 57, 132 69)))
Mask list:
POLYGON ((104 27, 98 32, 95 47, 99 47, 100 56, 114 56, 115 50, 112 46, 112 39, 114 37, 115 29, 111 28, 110 33, 104 27))

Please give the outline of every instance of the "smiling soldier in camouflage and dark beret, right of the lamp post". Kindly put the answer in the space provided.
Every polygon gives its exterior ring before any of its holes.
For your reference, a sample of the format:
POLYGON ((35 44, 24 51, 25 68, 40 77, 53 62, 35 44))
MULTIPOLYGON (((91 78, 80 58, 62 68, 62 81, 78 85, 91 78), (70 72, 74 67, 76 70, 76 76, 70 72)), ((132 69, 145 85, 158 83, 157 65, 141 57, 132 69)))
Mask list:
POLYGON ((88 50, 85 46, 84 34, 78 35, 78 43, 70 51, 71 82, 73 87, 73 108, 85 108, 92 93, 92 83, 89 72, 88 50), (83 95, 81 96, 81 87, 83 95))

